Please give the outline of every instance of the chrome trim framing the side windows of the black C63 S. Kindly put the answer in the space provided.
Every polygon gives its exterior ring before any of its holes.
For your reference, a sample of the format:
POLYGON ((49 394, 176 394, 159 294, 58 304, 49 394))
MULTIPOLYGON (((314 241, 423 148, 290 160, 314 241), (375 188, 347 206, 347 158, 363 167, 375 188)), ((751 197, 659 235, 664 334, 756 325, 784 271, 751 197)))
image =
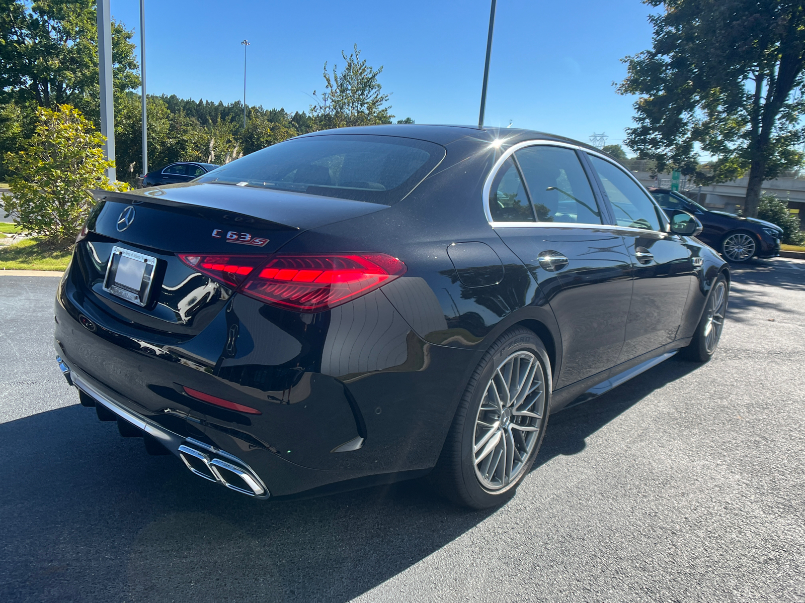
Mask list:
POLYGON ((625 170, 622 166, 619 166, 616 162, 609 157, 607 157, 603 153, 598 153, 597 151, 589 150, 584 148, 583 146, 572 145, 568 142, 559 142, 559 141, 552 141, 552 140, 526 140, 522 142, 518 142, 510 146, 506 149, 503 154, 497 158, 497 161, 492 166, 492 170, 489 170, 489 175, 486 177, 484 182, 484 188, 481 192, 481 203, 483 204, 484 208, 484 215, 486 216, 486 221, 489 222, 489 226, 492 228, 605 228, 605 230, 625 230, 628 232, 655 232, 660 235, 667 235, 668 228, 670 223, 667 221, 667 218, 663 219, 665 216, 665 212, 660 209, 660 213, 658 214, 658 219, 660 220, 661 227, 666 229, 665 232, 663 231, 656 231, 650 230, 648 228, 632 228, 630 226, 617 226, 617 224, 592 224, 587 222, 496 222, 492 218, 492 212, 489 211, 489 193, 492 191, 492 183, 497 176, 497 171, 501 169, 501 166, 506 162, 506 159, 510 158, 514 153, 516 153, 520 149, 525 149, 527 146, 559 146, 565 149, 572 149, 578 150, 583 153, 595 155, 598 158, 604 159, 605 161, 611 163, 615 166, 618 170, 621 170, 624 174, 627 174, 634 183, 637 183, 638 187, 641 191, 643 191, 646 196, 649 198, 650 202, 654 204, 654 207, 659 207, 657 204, 656 199, 651 195, 649 191, 646 190, 646 187, 640 183, 640 181, 634 177, 633 174, 630 174, 629 170, 625 170))

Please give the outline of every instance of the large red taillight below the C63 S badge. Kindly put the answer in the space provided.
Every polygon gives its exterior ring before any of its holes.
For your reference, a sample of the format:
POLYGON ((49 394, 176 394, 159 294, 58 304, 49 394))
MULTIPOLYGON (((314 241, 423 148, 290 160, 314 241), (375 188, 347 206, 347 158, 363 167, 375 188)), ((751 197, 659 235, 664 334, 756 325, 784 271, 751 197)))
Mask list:
POLYGON ((241 293, 296 312, 320 312, 361 297, 404 274, 384 253, 272 256, 250 274, 241 293))

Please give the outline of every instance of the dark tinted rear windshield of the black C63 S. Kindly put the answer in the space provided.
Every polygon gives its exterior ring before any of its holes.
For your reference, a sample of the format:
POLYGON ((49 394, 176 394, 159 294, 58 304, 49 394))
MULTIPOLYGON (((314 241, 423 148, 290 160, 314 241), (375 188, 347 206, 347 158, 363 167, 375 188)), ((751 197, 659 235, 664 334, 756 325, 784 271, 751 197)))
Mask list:
POLYGON ((443 146, 412 138, 322 134, 269 146, 196 182, 390 205, 410 193, 444 154, 443 146))

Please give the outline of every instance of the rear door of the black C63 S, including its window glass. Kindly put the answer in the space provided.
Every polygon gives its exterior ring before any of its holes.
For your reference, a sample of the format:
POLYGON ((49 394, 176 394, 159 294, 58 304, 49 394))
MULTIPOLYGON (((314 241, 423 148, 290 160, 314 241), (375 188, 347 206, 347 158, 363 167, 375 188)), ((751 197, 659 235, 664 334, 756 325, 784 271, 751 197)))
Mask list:
POLYGON ((562 388, 617 363, 632 294, 618 233, 603 228, 601 203, 576 150, 537 144, 506 159, 492 182, 495 232, 530 269, 562 337, 562 388))

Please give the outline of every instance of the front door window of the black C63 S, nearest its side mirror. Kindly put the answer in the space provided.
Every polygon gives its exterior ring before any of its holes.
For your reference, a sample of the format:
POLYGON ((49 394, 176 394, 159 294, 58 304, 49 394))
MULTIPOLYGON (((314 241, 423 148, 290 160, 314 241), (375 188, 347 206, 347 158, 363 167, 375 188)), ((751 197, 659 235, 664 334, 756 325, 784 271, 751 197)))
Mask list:
POLYGON ((588 157, 601 178, 609 203, 615 211, 615 223, 618 226, 658 231, 659 216, 656 206, 634 180, 612 163, 596 155, 588 157))

